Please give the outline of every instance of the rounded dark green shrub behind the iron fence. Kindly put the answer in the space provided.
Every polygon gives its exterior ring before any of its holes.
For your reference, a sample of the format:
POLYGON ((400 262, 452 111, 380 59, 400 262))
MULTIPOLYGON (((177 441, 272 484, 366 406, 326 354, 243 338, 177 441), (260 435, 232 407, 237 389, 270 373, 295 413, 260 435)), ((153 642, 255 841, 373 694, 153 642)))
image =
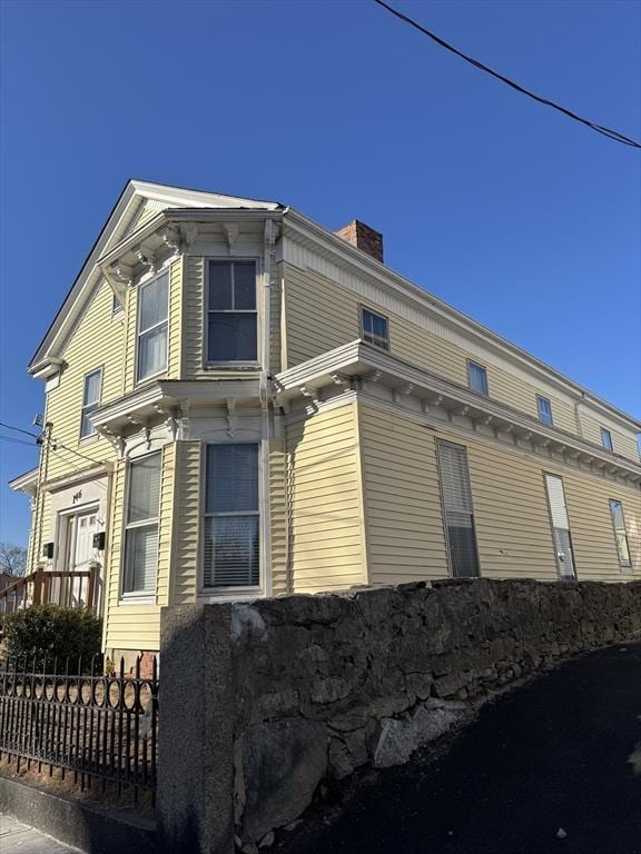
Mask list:
POLYGON ((3 624, 3 639, 9 658, 33 658, 49 668, 58 658, 58 667, 70 668, 82 656, 88 662, 100 653, 101 620, 88 608, 61 608, 58 605, 32 605, 9 614, 3 624))

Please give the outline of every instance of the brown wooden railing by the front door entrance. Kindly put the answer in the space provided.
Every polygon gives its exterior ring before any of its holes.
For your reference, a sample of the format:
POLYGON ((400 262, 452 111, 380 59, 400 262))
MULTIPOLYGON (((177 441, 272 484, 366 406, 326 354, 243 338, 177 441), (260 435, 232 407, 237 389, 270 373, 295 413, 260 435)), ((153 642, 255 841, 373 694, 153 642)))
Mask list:
POLYGON ((98 567, 65 570, 38 567, 0 590, 0 614, 12 614, 30 605, 85 607, 98 612, 98 567))

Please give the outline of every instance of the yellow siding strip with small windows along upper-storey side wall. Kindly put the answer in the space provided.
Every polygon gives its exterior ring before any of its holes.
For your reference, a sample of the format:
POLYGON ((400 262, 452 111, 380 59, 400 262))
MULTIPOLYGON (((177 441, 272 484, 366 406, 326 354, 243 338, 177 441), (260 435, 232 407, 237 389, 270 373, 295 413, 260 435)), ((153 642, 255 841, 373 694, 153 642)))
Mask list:
POLYGON ((398 359, 436 374, 461 386, 467 385, 467 360, 487 370, 490 397, 538 418, 536 395, 552 404, 554 425, 576 435, 572 405, 524 383, 472 350, 466 351, 447 338, 434 335, 375 301, 364 301, 355 294, 312 270, 283 265, 287 367, 348 344, 361 336, 359 306, 381 311, 389 321, 389 352, 398 359))

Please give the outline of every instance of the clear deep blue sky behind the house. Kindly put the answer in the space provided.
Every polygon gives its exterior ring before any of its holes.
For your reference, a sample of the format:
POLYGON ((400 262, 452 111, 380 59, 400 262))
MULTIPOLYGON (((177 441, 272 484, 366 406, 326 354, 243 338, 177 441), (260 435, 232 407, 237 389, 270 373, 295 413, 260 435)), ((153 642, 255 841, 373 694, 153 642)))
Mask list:
MULTIPOLYGON (((594 121, 641 137, 641 6, 397 8, 594 121)), ((12 2, 2 14, 0 420, 125 181, 357 217, 387 262, 641 416, 641 153, 516 95, 368 0, 12 2)), ((20 434, 0 427, 0 435, 20 434)), ((27 439, 27 437, 22 437, 27 439)), ((0 539, 37 463, 0 440, 0 539)))

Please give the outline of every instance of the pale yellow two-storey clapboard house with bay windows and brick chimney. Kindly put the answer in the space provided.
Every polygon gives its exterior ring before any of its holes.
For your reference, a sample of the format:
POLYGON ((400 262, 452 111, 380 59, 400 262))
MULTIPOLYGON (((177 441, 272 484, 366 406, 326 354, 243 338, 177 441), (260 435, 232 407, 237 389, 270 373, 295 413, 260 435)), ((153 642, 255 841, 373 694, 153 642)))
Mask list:
POLYGON ((29 371, 29 569, 92 568, 110 655, 158 649, 164 605, 641 578, 641 425, 361 222, 130 181, 29 371))

